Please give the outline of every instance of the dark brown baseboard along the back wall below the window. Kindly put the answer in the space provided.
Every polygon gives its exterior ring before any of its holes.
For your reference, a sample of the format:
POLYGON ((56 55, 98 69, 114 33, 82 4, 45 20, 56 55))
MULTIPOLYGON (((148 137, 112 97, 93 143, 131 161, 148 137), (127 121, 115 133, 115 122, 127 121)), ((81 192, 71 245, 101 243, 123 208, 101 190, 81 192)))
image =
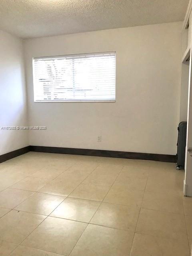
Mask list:
POLYGON ((84 155, 84 156, 104 156, 104 157, 116 157, 116 158, 128 158, 128 159, 154 160, 154 161, 172 162, 172 163, 176 162, 175 155, 134 153, 134 152, 111 151, 111 150, 30 146, 30 151, 72 154, 72 155, 74 154, 74 155, 84 155))

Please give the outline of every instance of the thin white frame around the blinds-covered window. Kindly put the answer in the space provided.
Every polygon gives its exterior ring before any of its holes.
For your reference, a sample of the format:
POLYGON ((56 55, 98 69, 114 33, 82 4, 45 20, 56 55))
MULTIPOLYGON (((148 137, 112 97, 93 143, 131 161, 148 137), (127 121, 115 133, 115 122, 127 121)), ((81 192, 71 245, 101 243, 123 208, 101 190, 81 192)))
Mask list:
MULTIPOLYGON (((86 53, 86 54, 68 54, 68 55, 56 55, 56 56, 41 56, 41 57, 34 57, 32 59, 32 69, 33 69, 33 96, 34 96, 34 60, 37 59, 46 59, 46 58, 64 58, 64 57, 75 57, 75 56, 89 56, 89 55, 98 55, 98 54, 115 54, 116 57, 116 52, 94 52, 94 53, 86 53)), ((34 97, 33 97, 34 98, 34 97)), ((116 102, 116 58, 115 58, 115 100, 35 100, 34 99, 34 103, 77 103, 77 102, 93 102, 93 103, 97 103, 97 102, 116 102)))

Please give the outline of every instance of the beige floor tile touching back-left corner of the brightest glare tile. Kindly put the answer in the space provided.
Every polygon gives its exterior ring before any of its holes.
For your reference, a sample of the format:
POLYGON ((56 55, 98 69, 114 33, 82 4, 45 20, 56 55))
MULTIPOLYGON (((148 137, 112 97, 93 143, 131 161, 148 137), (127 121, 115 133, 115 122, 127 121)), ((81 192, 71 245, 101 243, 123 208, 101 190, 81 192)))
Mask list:
POLYGON ((48 193, 58 196, 68 196, 78 185, 80 181, 73 180, 52 180, 41 188, 38 192, 48 193))

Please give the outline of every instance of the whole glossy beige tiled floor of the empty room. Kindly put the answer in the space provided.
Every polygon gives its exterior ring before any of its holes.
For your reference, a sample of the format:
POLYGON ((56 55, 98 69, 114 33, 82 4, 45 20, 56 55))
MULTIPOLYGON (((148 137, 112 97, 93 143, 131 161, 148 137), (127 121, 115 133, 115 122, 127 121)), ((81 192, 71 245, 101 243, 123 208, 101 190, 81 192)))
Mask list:
POLYGON ((190 256, 172 163, 29 152, 0 164, 0 256, 190 256))

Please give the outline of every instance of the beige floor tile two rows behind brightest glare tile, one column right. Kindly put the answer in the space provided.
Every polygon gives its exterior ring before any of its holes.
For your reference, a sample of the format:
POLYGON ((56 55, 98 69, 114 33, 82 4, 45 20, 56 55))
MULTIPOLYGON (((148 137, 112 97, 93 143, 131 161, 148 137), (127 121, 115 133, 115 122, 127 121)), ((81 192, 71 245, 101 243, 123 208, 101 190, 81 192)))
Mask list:
POLYGON ((146 176, 135 176, 120 173, 114 182, 114 186, 125 186, 128 189, 145 190, 147 183, 146 176))

